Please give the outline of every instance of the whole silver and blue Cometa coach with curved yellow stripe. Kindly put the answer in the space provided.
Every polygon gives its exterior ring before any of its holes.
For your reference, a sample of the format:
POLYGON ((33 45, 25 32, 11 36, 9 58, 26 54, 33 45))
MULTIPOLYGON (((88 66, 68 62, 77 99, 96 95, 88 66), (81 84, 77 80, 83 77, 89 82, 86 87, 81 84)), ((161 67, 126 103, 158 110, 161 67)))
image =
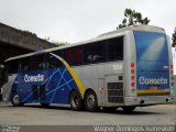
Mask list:
POLYGON ((131 25, 96 38, 11 57, 3 98, 90 112, 173 102, 173 58, 164 29, 131 25))

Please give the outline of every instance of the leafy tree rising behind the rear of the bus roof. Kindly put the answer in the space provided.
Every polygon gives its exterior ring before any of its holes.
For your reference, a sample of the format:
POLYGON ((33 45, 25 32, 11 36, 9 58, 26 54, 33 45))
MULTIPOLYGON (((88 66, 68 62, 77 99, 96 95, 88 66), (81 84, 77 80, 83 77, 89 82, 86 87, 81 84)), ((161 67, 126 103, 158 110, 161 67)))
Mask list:
POLYGON ((140 12, 135 10, 125 9, 124 10, 124 19, 121 24, 117 29, 125 28, 133 24, 148 24, 150 20, 147 18, 142 18, 140 12))

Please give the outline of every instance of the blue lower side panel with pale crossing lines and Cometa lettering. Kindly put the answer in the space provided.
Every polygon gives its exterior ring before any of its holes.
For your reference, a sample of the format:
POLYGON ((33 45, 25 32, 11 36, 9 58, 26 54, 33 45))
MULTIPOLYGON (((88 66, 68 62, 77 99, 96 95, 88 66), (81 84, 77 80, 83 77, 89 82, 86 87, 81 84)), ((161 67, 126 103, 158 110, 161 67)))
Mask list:
POLYGON ((79 91, 66 68, 18 74, 12 91, 19 94, 20 102, 69 103, 69 91, 79 91))

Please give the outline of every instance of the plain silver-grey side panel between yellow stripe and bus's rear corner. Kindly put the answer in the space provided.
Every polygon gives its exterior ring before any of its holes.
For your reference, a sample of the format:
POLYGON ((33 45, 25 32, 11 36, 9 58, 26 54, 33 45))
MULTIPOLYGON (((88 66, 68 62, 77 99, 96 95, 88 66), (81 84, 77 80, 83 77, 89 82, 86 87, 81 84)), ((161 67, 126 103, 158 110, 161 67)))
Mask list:
POLYGON ((119 61, 85 65, 81 67, 76 66, 74 70, 86 89, 94 89, 98 97, 98 105, 105 107, 110 103, 108 101, 108 82, 123 82, 123 61, 119 61))

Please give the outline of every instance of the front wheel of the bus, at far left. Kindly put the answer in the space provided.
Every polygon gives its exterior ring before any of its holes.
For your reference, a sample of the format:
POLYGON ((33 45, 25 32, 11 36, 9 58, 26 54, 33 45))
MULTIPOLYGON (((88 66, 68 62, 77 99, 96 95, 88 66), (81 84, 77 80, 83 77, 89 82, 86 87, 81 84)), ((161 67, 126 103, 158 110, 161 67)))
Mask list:
POLYGON ((13 107, 22 107, 22 106, 24 106, 24 102, 20 102, 19 101, 19 95, 16 92, 12 94, 11 103, 13 105, 13 107))

